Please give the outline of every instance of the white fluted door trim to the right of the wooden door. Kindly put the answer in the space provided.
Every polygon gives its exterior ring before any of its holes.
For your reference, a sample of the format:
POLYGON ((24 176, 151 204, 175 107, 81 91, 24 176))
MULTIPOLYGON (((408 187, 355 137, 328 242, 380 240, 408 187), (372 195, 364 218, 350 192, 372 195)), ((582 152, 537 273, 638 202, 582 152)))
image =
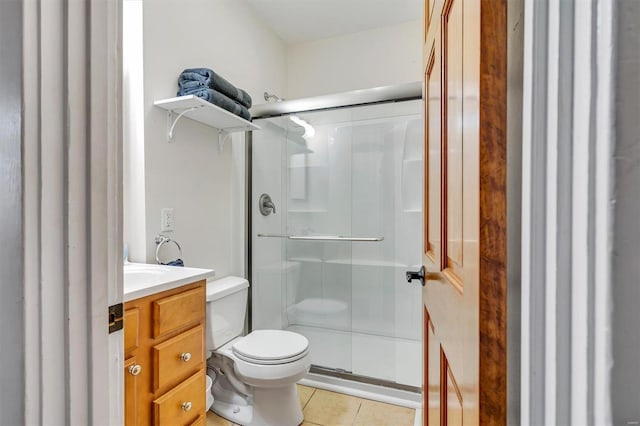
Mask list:
POLYGON ((525 2, 523 425, 611 423, 614 8, 525 2))

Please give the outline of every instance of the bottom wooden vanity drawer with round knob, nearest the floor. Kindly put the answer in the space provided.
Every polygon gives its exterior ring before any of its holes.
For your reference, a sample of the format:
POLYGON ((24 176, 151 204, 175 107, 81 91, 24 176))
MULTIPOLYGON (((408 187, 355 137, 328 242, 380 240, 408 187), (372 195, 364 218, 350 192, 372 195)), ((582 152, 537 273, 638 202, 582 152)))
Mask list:
POLYGON ((205 414, 204 370, 153 401, 155 425, 189 425, 205 414))

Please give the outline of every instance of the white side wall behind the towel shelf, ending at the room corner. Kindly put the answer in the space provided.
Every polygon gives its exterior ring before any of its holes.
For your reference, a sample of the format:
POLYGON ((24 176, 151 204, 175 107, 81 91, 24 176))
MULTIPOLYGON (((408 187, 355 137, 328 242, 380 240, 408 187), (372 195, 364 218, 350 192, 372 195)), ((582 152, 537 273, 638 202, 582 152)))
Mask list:
MULTIPOLYGON (((243 221, 236 219, 243 215, 237 198, 244 194, 237 193, 242 174, 233 170, 230 144, 218 153, 216 130, 190 120, 181 121, 167 143, 166 115, 153 102, 175 96, 180 72, 199 66, 216 70, 254 102, 267 88, 282 93, 285 46, 244 2, 235 0, 144 0, 143 20, 144 141, 129 143, 144 143, 144 192, 129 199, 145 205, 138 206, 143 220, 140 214, 125 216, 130 260, 155 262, 160 209, 171 207, 175 231, 170 235, 182 245, 186 265, 214 268, 218 276, 242 274, 241 254, 232 253, 232 247, 243 250, 233 241, 243 238, 243 221), (144 233, 135 232, 134 222, 144 223, 144 233)), ((233 139, 234 145, 243 144, 243 135, 233 139)), ((242 146, 233 151, 244 155, 242 146)))

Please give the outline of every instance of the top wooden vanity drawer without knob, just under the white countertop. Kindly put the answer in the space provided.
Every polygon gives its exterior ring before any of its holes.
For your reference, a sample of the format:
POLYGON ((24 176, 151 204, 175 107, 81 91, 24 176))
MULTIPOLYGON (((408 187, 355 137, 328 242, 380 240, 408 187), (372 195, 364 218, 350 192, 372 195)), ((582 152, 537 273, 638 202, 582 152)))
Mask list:
POLYGON ((153 302, 153 337, 158 338, 204 318, 204 286, 153 302))

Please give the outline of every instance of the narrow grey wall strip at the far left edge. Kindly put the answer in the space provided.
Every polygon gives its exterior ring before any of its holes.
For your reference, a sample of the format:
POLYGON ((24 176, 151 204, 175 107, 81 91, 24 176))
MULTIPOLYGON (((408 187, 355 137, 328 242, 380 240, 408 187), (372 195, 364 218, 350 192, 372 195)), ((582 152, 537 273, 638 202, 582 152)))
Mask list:
POLYGON ((0 392, 5 396, 0 400, 0 424, 25 422, 22 43, 21 2, 0 2, 0 312, 8 325, 2 327, 0 337, 12 348, 4 351, 0 367, 0 392))

